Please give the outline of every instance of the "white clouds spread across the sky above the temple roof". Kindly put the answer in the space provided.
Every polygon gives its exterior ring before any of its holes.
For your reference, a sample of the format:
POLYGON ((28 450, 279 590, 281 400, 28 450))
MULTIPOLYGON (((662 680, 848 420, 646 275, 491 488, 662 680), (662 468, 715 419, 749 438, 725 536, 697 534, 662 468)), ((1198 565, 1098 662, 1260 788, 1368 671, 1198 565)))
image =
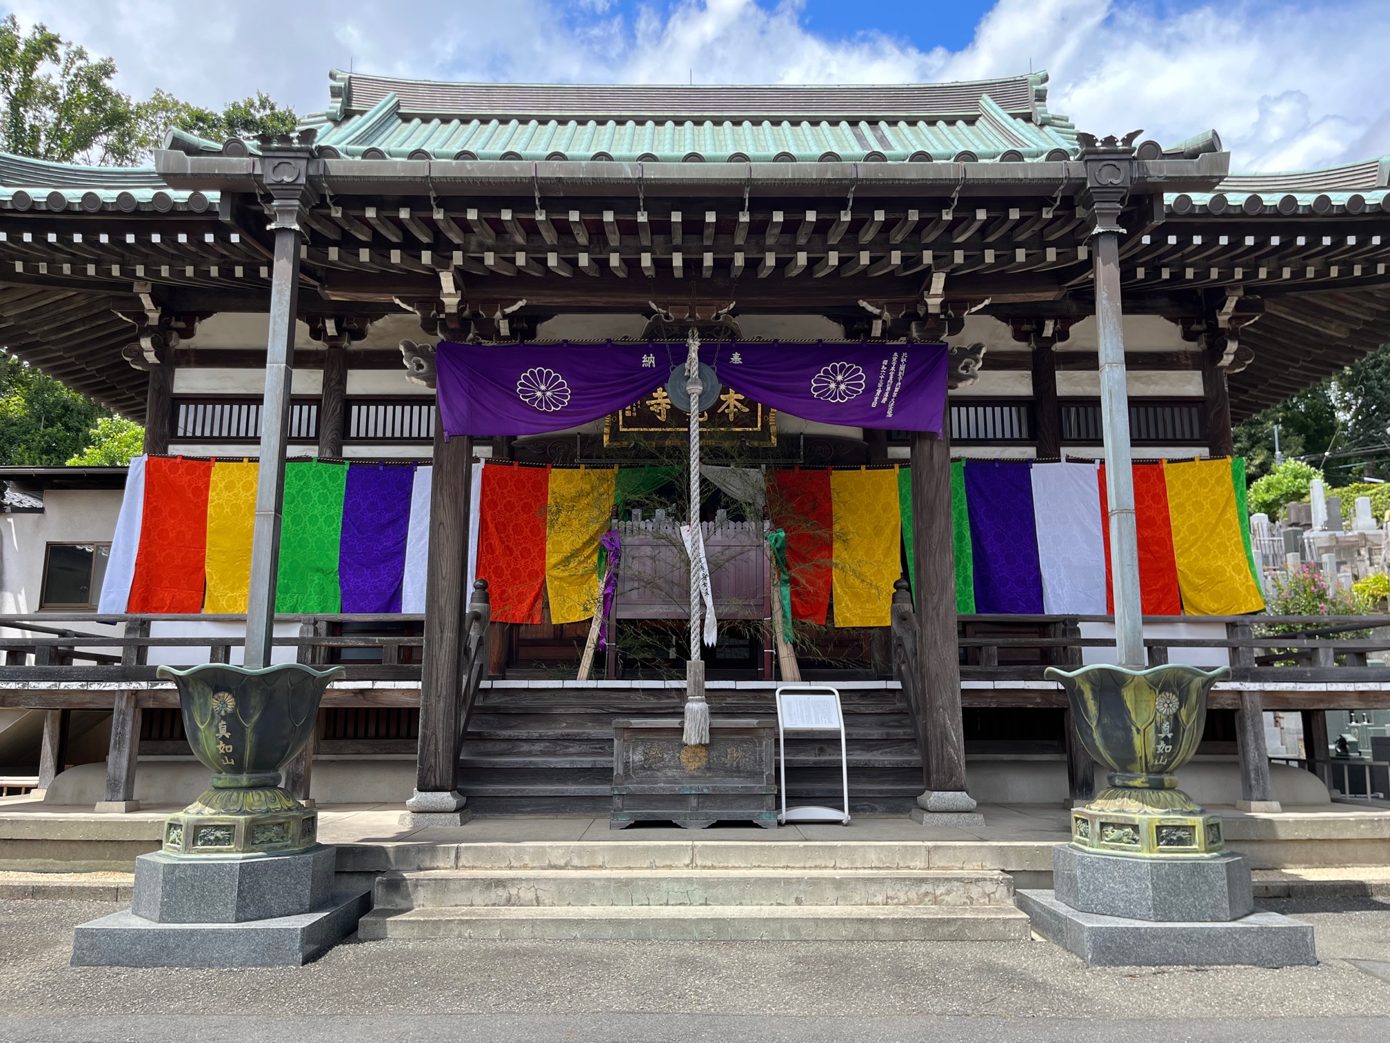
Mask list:
MULTIPOLYGON (((268 90, 299 111, 327 71, 436 79, 903 82, 1051 74, 1048 104, 1083 129, 1177 140, 1216 127, 1245 170, 1326 165, 1390 149, 1390 4, 1212 0, 1158 17, 1137 0, 998 0, 960 51, 865 32, 808 32, 801 4, 682 0, 635 19, 610 0, 19 0, 122 88, 218 106, 268 90)), ((872 6, 865 6, 866 21, 872 6)))

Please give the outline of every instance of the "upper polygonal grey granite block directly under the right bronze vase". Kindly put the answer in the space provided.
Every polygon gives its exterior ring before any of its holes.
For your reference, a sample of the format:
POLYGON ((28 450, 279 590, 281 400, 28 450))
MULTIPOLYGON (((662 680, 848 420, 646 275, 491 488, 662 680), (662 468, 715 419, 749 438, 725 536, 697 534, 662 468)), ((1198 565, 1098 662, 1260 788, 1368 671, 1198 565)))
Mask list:
POLYGON ((1250 862, 1208 858, 1106 855, 1068 844, 1052 848, 1058 901, 1080 912, 1156 922, 1223 922, 1255 909, 1250 862))

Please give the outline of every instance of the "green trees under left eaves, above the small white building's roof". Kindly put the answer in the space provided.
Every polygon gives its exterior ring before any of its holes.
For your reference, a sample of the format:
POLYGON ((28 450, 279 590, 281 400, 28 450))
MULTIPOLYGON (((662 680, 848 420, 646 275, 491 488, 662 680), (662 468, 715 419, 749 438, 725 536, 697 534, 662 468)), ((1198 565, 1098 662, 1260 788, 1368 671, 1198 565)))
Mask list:
POLYGON ((111 413, 51 377, 7 357, 0 367, 0 463, 61 467, 111 413))

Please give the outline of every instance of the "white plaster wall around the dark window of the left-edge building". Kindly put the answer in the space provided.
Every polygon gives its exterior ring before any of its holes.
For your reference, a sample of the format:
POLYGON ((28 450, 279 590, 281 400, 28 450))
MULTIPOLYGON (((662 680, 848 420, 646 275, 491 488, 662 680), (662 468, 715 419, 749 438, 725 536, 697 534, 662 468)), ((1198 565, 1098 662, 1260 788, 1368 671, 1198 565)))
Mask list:
POLYGON ((0 515, 0 612, 38 612, 50 542, 110 542, 121 490, 47 490, 43 513, 0 515))

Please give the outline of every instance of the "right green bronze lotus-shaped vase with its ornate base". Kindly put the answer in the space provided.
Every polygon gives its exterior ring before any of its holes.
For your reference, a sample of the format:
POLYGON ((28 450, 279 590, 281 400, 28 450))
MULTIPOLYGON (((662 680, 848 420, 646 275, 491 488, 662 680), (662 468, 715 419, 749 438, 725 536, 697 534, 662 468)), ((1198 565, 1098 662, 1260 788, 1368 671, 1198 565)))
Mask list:
POLYGON ((1154 666, 1130 670, 1098 663, 1051 666, 1062 683, 1081 745, 1111 769, 1109 786, 1072 812, 1072 844, 1122 855, 1218 854, 1220 819, 1177 789, 1173 776, 1197 752, 1212 684, 1225 666, 1154 666))

